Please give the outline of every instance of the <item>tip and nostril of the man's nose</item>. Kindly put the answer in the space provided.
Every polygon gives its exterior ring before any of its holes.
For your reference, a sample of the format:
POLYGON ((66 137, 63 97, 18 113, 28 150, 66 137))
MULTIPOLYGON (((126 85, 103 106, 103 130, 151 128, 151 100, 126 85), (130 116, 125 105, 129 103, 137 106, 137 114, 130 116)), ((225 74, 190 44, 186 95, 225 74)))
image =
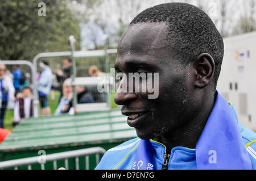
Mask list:
POLYGON ((118 105, 125 105, 138 99, 138 95, 134 92, 116 92, 114 102, 118 105))

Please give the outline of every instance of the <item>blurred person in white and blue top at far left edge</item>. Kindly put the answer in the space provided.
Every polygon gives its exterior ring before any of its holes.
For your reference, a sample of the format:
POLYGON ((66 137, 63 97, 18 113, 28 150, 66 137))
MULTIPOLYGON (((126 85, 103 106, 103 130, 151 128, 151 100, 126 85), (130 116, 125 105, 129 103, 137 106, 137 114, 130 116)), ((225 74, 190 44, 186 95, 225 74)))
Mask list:
POLYGON ((12 79, 6 74, 6 66, 0 65, 0 128, 4 128, 7 104, 14 101, 14 86, 12 79))

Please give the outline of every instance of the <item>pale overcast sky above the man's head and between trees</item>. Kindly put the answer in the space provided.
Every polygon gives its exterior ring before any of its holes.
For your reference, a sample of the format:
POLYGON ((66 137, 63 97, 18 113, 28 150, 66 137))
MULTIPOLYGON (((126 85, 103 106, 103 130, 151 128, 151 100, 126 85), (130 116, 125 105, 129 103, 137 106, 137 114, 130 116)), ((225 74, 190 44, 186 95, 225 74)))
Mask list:
MULTIPOLYGON (((248 2, 250 0, 133 0, 135 4, 139 3, 141 5, 138 11, 131 10, 131 6, 129 5, 118 6, 118 1, 120 2, 120 0, 105 0, 99 7, 97 7, 95 15, 92 15, 92 17, 90 17, 92 21, 87 25, 81 24, 81 47, 93 47, 92 40, 88 38, 92 33, 92 30, 89 30, 89 28, 93 28, 93 33, 96 33, 96 35, 98 36, 98 44, 102 44, 102 36, 104 33, 100 30, 100 28, 97 27, 97 24, 93 22, 93 19, 101 18, 102 21, 105 21, 105 23, 107 24, 107 31, 114 32, 118 30, 118 19, 121 15, 123 16, 122 20, 129 24, 129 22, 138 14, 138 12, 147 9, 148 7, 167 2, 187 2, 195 6, 198 6, 199 4, 203 5, 205 12, 207 12, 207 14, 210 16, 210 18, 213 20, 213 22, 216 24, 216 27, 220 31, 220 3, 221 1, 227 1, 228 4, 226 7, 225 30, 228 31, 228 33, 231 33, 232 28, 237 23, 237 20, 240 18, 240 16, 249 11, 248 2), (121 9, 119 7, 121 7, 121 9)), ((73 5, 76 5, 76 1, 73 1, 73 5)), ((80 9, 80 11, 82 11, 83 9, 81 5, 76 6, 76 8, 80 9)))

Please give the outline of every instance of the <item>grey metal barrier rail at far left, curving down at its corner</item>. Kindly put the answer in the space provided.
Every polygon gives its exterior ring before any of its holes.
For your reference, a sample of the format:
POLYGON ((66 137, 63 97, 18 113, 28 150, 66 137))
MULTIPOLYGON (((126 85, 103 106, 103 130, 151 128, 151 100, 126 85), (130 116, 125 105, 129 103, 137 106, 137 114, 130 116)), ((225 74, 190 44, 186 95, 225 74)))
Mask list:
POLYGON ((33 103, 34 103, 34 117, 38 117, 39 112, 36 112, 36 110, 39 111, 38 108, 38 104, 39 104, 39 100, 38 100, 38 92, 36 89, 36 70, 35 70, 35 66, 27 60, 1 60, 0 64, 5 64, 5 65, 28 65, 31 69, 31 74, 32 74, 32 85, 33 85, 33 103))

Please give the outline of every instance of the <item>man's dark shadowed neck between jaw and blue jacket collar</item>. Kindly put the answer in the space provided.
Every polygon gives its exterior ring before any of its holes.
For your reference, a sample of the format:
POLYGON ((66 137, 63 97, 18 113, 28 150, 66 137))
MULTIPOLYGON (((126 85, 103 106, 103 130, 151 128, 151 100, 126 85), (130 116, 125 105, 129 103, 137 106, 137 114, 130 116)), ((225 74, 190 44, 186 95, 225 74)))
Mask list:
POLYGON ((207 103, 202 106, 204 108, 184 125, 159 137, 159 142, 166 146, 168 154, 170 154, 172 148, 176 146, 183 146, 191 149, 196 148, 197 141, 199 140, 208 117, 212 112, 215 99, 216 96, 210 98, 207 103))

